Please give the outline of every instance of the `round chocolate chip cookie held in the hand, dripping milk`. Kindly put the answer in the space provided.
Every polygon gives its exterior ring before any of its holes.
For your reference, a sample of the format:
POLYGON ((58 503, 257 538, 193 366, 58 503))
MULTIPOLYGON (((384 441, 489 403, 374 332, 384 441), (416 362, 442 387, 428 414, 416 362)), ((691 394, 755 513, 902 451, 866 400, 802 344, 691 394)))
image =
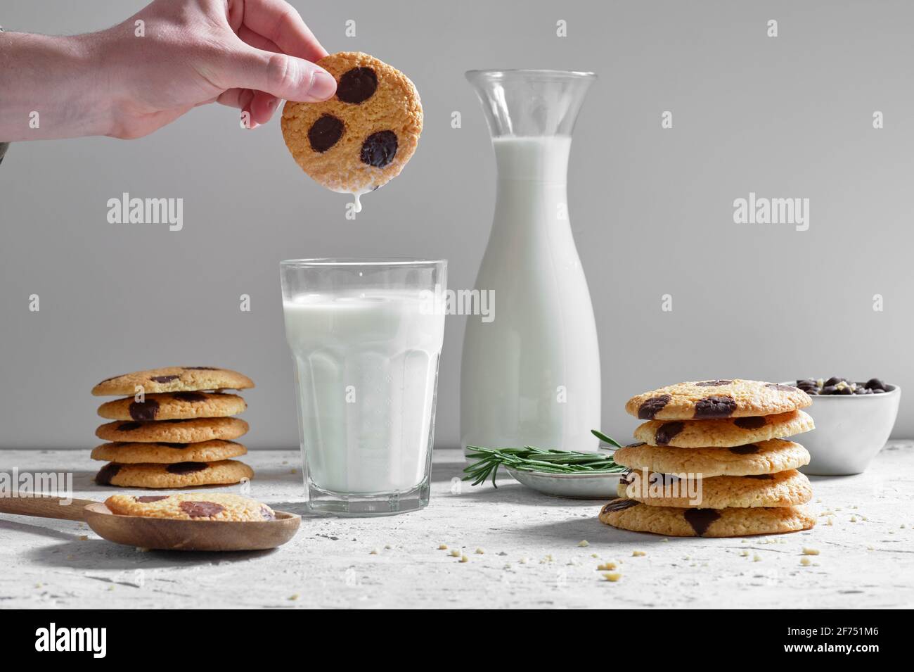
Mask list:
POLYGON ((317 64, 334 76, 336 95, 286 102, 286 146, 304 172, 328 189, 356 195, 377 189, 398 176, 416 151, 419 92, 398 69, 361 52, 331 54, 317 64))

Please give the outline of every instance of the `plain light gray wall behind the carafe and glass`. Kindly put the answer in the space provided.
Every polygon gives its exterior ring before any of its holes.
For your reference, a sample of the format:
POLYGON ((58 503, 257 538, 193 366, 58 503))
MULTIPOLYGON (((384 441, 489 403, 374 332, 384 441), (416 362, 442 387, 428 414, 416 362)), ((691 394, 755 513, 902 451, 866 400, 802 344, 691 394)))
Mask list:
MULTIPOLYGON (((347 221, 346 198, 293 164, 278 120, 245 132, 224 107, 138 141, 14 144, 0 166, 3 447, 90 446, 91 386, 169 364, 247 373, 258 388, 246 443, 296 444, 278 261, 444 256, 451 286, 471 287, 494 201, 488 133, 462 76, 475 68, 600 74, 569 188, 600 330, 604 429, 626 436, 624 400, 681 379, 836 374, 914 389, 909 3, 293 4, 330 51, 370 52, 415 81, 418 153, 347 221), (350 18, 356 38, 344 37, 350 18), (780 37, 766 37, 771 18, 780 37), (183 197, 184 230, 108 224, 106 201, 124 191, 183 197), (810 229, 734 224, 733 199, 749 191, 810 198, 810 229)), ((78 33, 142 5, 19 0, 0 23, 78 33)), ((464 319, 448 321, 439 445, 459 442, 464 319)), ((897 437, 914 436, 912 404, 909 392, 897 437)))

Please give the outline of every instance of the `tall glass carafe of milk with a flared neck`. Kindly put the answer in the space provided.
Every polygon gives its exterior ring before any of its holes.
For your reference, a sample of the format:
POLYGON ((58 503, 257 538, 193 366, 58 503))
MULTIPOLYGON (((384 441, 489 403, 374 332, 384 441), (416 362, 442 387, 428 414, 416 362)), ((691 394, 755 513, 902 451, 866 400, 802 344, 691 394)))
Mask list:
POLYGON ((592 73, 471 70, 492 133, 494 222, 475 289, 489 321, 463 339, 461 439, 467 445, 597 450, 600 351, 571 235, 571 132, 592 73))

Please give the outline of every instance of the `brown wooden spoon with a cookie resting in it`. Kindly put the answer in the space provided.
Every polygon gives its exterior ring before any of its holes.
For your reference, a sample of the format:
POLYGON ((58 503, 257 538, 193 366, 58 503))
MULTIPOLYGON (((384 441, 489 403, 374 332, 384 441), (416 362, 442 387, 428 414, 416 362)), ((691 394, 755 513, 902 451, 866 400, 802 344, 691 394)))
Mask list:
POLYGON ((275 549, 295 536, 302 517, 276 511, 275 520, 175 520, 118 516, 101 502, 60 497, 0 497, 0 513, 85 520, 102 539, 143 549, 262 550, 275 549))

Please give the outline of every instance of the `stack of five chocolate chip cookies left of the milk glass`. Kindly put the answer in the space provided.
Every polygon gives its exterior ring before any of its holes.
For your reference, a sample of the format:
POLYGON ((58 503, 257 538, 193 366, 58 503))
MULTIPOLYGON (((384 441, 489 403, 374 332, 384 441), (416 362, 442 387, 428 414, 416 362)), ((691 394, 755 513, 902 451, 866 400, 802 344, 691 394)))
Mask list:
POLYGON ((227 368, 168 367, 102 380, 96 396, 131 395, 108 401, 95 435, 102 443, 92 459, 109 464, 95 476, 99 485, 175 488, 228 485, 251 478, 247 464, 229 458, 248 452, 233 441, 248 423, 232 416, 248 404, 225 389, 248 389, 247 376, 227 368))

